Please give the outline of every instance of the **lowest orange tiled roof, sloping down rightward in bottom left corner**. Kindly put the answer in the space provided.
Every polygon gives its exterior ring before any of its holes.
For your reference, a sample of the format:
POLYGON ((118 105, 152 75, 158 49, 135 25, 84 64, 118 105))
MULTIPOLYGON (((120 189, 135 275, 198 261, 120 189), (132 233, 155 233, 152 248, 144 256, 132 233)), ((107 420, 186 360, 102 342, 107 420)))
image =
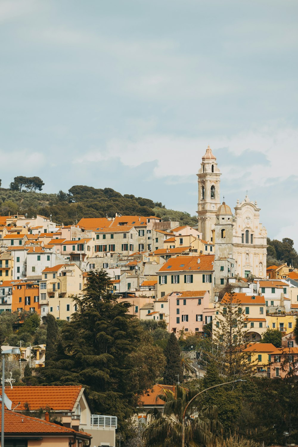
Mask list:
MULTIPOLYGON (((6 391, 6 389, 5 389, 6 391)), ((1 414, 1 411, 0 411, 1 414)), ((74 434, 78 438, 90 439, 91 434, 85 432, 77 432, 72 428, 63 427, 53 422, 47 422, 37 417, 25 416, 24 414, 15 413, 14 411, 5 410, 4 417, 4 433, 9 439, 9 435, 23 435, 25 438, 29 434, 52 434, 56 436, 71 436, 74 434)))

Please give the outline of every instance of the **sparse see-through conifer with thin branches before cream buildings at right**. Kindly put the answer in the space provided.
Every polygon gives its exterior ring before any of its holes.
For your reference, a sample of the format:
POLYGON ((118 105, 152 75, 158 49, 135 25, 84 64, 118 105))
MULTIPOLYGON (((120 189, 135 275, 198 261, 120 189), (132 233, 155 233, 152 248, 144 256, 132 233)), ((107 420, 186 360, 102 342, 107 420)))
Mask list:
POLYGON ((248 346, 248 329, 244 327, 244 312, 235 293, 230 291, 221 301, 218 310, 217 329, 214 330, 213 343, 217 346, 218 364, 221 375, 236 378, 250 375, 254 363, 248 361, 249 353, 244 352, 248 346))

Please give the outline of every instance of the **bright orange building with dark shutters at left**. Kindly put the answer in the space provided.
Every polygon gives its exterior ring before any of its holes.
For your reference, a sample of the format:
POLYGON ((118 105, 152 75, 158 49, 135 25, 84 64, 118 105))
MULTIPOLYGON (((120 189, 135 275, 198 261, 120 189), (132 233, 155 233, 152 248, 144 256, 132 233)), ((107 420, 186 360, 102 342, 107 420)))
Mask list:
POLYGON ((40 315, 39 285, 17 282, 13 285, 12 312, 37 312, 40 315))

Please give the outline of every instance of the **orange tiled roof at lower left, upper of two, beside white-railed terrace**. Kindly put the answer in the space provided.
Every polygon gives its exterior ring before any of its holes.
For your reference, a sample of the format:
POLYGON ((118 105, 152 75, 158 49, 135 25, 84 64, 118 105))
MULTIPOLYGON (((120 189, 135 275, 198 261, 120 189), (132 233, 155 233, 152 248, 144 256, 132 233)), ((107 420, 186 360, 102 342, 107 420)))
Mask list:
MULTIPOLYGON (((25 409, 24 404, 28 402, 30 410, 50 407, 54 411, 72 411, 76 400, 81 392, 82 386, 21 386, 5 388, 8 398, 17 405, 17 411, 25 409)), ((2 390, 0 390, 0 395, 2 390)), ((15 406, 13 405, 13 406, 15 406)))

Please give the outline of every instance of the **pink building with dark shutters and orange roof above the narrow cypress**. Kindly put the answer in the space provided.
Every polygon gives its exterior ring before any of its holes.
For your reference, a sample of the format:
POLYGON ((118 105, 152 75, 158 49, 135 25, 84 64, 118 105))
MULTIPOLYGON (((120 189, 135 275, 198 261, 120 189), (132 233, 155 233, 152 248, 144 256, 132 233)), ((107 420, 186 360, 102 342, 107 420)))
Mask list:
POLYGON ((212 321, 215 309, 209 291, 172 292, 168 295, 169 332, 203 332, 203 325, 212 321), (212 307, 210 307, 212 306, 212 307))

